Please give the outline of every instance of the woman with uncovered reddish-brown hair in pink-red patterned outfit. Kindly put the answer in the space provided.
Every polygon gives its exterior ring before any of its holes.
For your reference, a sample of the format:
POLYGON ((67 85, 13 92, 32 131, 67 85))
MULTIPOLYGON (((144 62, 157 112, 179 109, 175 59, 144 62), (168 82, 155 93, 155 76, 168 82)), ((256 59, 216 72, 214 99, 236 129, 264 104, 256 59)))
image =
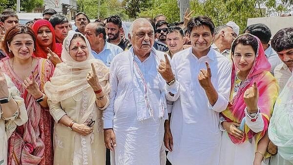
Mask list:
POLYGON ((24 99, 26 124, 17 126, 8 141, 8 165, 53 165, 52 127, 43 86, 54 66, 46 59, 32 57, 35 36, 25 25, 11 28, 5 35, 4 50, 9 58, 0 62, 24 99))

